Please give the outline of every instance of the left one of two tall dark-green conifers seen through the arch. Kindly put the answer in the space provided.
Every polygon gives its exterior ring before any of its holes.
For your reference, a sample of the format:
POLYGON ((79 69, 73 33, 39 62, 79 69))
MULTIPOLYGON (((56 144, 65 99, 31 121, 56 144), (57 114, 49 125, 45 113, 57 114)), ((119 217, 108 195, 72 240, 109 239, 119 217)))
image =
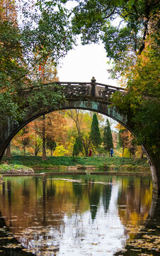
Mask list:
POLYGON ((92 124, 91 124, 91 142, 93 146, 98 147, 101 144, 101 134, 98 127, 98 118, 96 113, 93 114, 92 124))

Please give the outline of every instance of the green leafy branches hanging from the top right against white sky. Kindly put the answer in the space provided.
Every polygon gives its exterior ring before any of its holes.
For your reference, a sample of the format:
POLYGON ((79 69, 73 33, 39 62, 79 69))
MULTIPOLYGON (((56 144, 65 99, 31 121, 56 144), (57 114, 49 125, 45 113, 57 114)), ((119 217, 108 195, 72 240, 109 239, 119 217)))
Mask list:
POLYGON ((103 41, 114 61, 111 75, 125 75, 144 50, 150 18, 157 9, 156 0, 80 0, 73 11, 73 31, 81 34, 83 44, 103 41))

